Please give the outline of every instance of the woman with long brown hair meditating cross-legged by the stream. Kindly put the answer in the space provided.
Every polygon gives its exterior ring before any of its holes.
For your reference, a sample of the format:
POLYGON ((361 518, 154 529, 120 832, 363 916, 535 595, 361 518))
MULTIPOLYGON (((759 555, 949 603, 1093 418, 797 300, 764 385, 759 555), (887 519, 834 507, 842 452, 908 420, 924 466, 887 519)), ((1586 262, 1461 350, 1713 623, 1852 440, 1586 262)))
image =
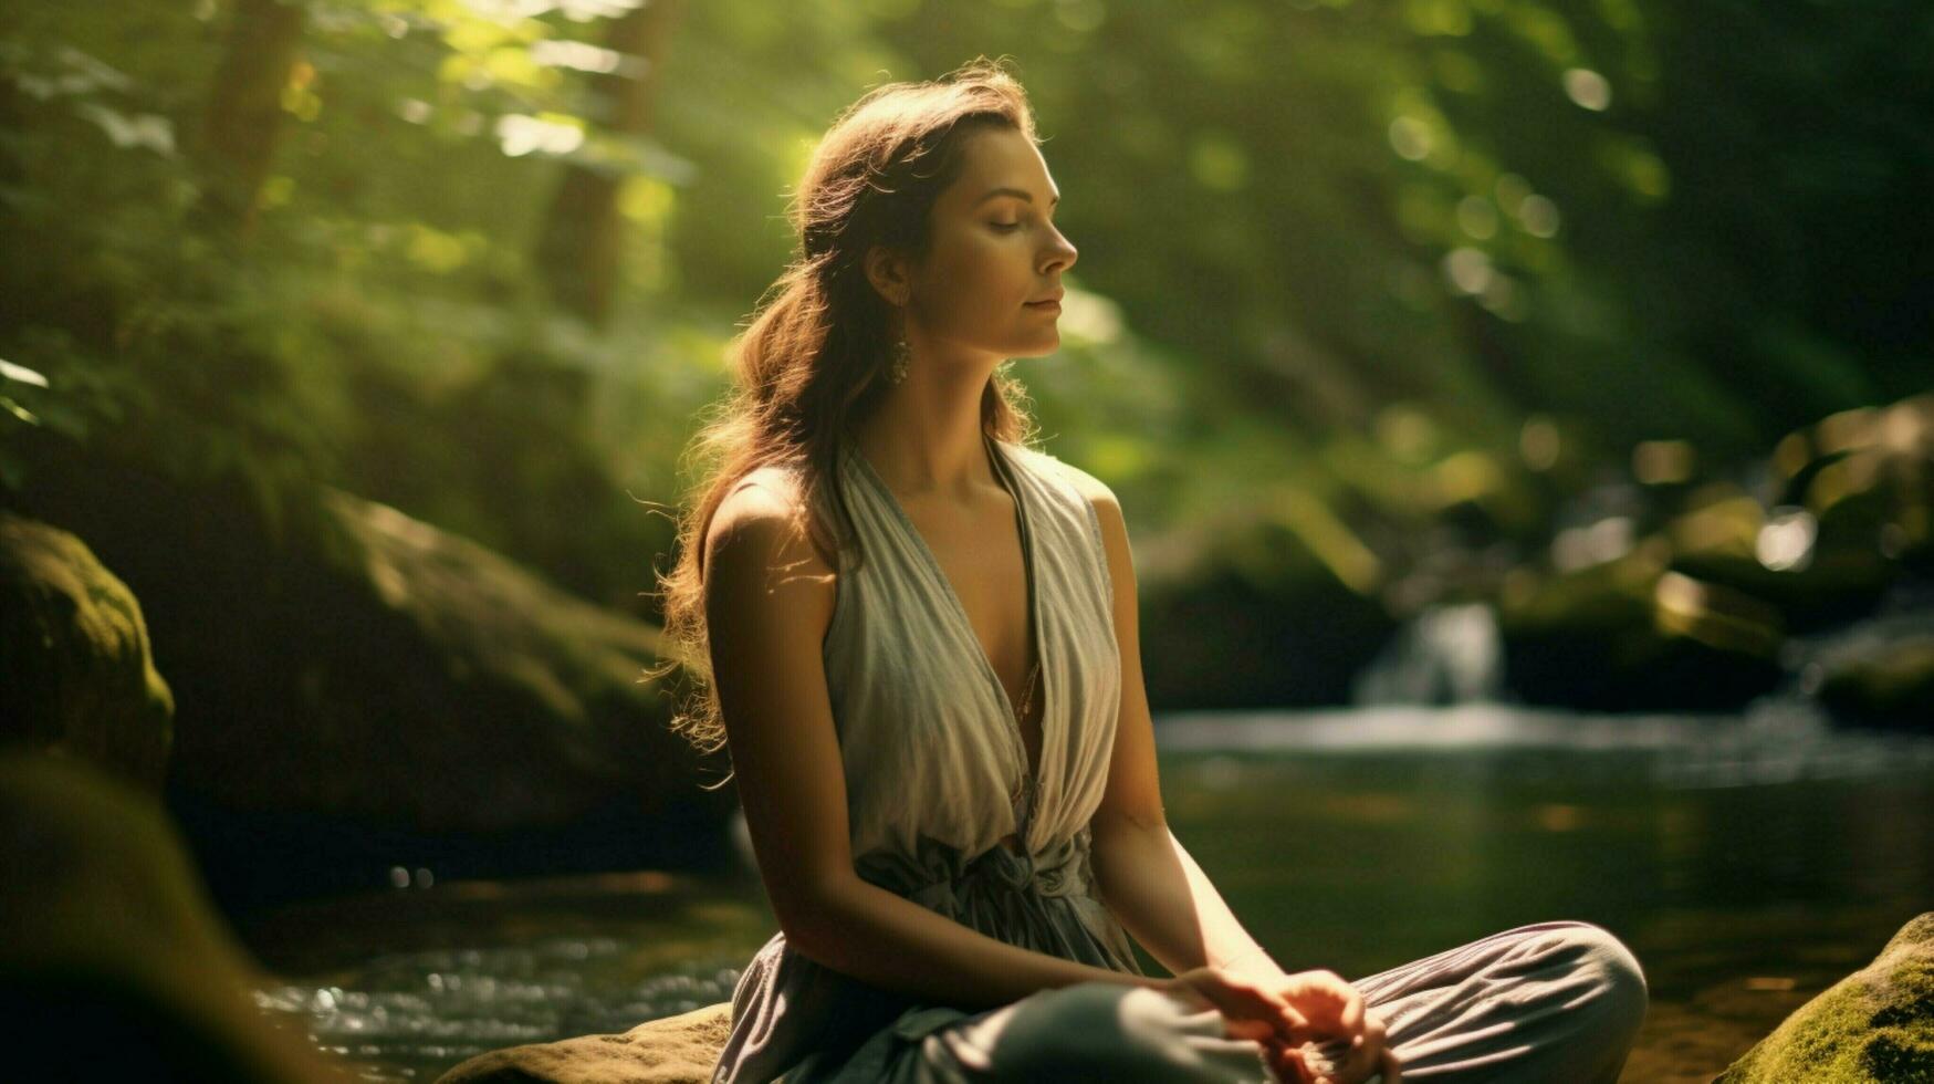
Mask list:
POLYGON ((677 726, 729 745, 781 927, 714 1084, 1615 1080, 1646 987, 1603 929, 1288 974, 1168 832, 1122 509, 1004 374, 1058 346, 1058 201, 1000 66, 870 91, 700 436, 677 726))

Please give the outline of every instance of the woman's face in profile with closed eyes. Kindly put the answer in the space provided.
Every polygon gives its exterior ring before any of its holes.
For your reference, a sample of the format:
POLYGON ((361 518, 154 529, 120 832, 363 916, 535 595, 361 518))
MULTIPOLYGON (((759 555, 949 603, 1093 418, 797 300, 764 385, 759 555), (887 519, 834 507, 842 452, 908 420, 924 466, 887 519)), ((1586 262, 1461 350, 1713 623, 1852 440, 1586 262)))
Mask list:
POLYGON ((967 136, 963 168, 932 209, 932 248, 909 267, 907 335, 940 350, 996 358, 1054 352, 1062 271, 1075 246, 1054 228, 1060 190, 1035 143, 1013 128, 967 136))

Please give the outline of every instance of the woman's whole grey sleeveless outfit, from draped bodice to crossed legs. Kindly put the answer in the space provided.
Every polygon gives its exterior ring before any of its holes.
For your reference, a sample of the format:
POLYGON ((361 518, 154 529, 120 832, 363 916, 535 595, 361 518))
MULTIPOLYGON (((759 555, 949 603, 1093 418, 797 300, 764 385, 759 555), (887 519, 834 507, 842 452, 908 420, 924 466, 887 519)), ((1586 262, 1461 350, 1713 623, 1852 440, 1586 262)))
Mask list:
MULTIPOLYGON (((1093 505, 1054 457, 988 439, 1013 494, 1046 697, 1039 786, 1000 678, 913 521, 857 451, 841 461, 866 559, 841 567, 824 662, 855 871, 981 933, 1141 974, 1093 894, 1122 699, 1108 561, 1093 505), (1010 799, 1010 796, 1015 796, 1010 799), (1000 846, 1010 832, 1025 852, 1000 846)), ((841 556, 841 565, 847 565, 841 556)), ((1646 978, 1611 931, 1545 921, 1352 979, 1389 1026, 1404 1078, 1615 1084, 1646 1016, 1646 978)), ((926 1005, 866 985, 774 935, 733 989, 714 1084, 1263 1084, 1261 1043, 1166 991, 1087 981, 1004 1007, 926 1005)), ((1340 1039, 1305 1043, 1311 1069, 1340 1039)), ((1367 1084, 1379 1084, 1371 1076, 1367 1084)))

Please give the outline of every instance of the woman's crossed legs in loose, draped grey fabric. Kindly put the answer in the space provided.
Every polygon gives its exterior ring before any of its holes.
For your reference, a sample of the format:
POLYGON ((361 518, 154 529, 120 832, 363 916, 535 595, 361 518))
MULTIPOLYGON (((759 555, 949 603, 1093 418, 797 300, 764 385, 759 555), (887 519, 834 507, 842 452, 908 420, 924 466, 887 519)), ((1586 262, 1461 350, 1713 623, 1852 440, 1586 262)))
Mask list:
MULTIPOLYGON (((1352 985, 1383 1016, 1404 1080, 1615 1084, 1646 1016, 1638 960, 1582 921, 1507 929, 1352 985)), ((903 1038, 884 1076, 905 1084, 1275 1080, 1263 1047, 1224 1038, 1215 1009, 1118 983, 1044 989, 903 1038)), ((1315 1070, 1342 1049, 1305 1045, 1315 1070)))

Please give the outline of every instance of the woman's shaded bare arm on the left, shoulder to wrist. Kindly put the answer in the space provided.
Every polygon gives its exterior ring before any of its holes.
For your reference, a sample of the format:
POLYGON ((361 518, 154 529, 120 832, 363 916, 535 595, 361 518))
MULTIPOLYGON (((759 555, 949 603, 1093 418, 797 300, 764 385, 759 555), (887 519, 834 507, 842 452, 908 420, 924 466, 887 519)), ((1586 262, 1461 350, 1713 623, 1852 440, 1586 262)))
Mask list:
POLYGON ((1087 979, 1166 987, 986 937, 853 869, 845 770, 820 643, 832 571, 787 505, 745 486, 706 538, 706 621, 760 877, 787 941, 861 981, 942 1005, 1004 1005, 1087 979))

